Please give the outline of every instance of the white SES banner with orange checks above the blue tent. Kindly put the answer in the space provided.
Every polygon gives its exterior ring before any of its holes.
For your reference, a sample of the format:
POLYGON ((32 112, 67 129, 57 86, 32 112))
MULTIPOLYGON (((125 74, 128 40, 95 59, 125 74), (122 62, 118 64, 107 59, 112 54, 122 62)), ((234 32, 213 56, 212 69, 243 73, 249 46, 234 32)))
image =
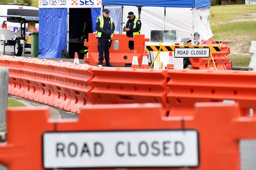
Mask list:
POLYGON ((39 8, 100 8, 102 0, 39 0, 39 8))

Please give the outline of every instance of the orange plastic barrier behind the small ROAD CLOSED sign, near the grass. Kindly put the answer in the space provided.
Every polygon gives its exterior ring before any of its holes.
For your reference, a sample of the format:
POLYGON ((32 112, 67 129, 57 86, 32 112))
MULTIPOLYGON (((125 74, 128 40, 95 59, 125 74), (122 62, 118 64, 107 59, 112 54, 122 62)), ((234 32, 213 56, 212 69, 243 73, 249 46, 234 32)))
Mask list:
MULTIPOLYGON (((225 67, 225 61, 227 59, 227 54, 230 53, 229 47, 227 46, 227 44, 214 44, 214 45, 220 46, 220 52, 211 52, 217 70, 227 70, 225 67)), ((189 58, 189 60, 191 62, 190 69, 207 70, 209 58, 189 58)), ((211 56, 210 56, 209 69, 215 70, 211 56)))

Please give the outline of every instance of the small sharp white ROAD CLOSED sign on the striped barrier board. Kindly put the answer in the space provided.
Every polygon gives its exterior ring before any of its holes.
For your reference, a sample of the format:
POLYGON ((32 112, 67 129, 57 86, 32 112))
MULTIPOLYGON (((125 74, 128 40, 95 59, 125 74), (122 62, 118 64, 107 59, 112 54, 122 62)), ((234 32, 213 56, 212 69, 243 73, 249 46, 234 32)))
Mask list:
POLYGON ((175 48, 175 58, 205 58, 210 56, 210 48, 175 48))

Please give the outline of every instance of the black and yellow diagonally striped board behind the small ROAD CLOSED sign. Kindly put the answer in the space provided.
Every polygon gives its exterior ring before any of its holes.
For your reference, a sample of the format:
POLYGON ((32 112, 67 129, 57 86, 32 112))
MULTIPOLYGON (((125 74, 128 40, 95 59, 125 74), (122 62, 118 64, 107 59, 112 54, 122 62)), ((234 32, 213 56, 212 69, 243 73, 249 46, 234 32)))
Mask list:
MULTIPOLYGON (((147 52, 174 52, 175 48, 209 48, 208 46, 163 46, 146 45, 147 52)), ((220 46, 211 45, 211 52, 220 52, 220 46)))

